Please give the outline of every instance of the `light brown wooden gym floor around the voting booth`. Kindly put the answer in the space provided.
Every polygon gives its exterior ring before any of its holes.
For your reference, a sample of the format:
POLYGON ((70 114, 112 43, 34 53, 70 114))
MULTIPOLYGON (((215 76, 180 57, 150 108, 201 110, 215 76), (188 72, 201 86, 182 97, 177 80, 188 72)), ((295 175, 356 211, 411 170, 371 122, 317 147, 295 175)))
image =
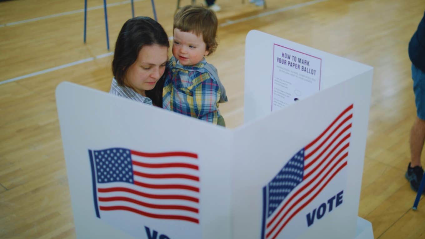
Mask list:
MULTIPOLYGON (((131 17, 130 1, 108 0, 107 51, 102 1, 88 2, 86 44, 83 1, 0 2, 0 238, 75 238, 54 91, 62 81, 108 91, 108 53, 131 17)), ((172 36, 175 1, 155 2, 172 36)), ((217 0, 220 42, 207 59, 227 89, 229 102, 220 108, 228 127, 243 122, 244 41, 251 29, 373 66, 359 216, 372 223, 375 238, 425 238, 425 202, 412 211, 416 193, 404 178, 416 114, 407 47, 425 3, 267 0, 263 9, 245 2, 217 0)), ((135 13, 153 17, 150 1, 136 0, 135 13)))

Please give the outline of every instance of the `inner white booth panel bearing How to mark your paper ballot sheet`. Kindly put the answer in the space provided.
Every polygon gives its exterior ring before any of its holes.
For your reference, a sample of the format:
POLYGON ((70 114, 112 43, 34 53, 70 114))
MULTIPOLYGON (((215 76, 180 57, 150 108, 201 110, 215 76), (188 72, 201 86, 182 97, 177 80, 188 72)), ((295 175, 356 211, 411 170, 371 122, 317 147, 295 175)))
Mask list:
MULTIPOLYGON (((252 30, 245 44, 245 122, 353 77, 371 84, 372 73, 371 66, 252 30)), ((362 86, 357 94, 368 100, 371 87, 362 86)))

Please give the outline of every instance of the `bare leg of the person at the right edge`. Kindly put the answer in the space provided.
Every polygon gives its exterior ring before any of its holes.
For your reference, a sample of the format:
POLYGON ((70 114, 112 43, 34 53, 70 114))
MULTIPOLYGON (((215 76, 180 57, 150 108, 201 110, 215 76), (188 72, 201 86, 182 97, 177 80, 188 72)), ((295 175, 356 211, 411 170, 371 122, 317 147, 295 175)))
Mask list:
POLYGON ((422 166, 421 154, 425 142, 425 120, 416 117, 410 131, 411 167, 422 166))

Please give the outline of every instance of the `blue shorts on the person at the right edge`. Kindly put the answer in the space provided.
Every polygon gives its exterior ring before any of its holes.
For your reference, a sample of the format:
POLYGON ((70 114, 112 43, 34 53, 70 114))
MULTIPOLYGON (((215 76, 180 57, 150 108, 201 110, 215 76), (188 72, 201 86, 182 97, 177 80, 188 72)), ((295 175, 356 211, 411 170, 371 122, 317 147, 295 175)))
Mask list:
POLYGON ((412 64, 413 91, 415 92, 416 114, 425 120, 425 73, 412 64))

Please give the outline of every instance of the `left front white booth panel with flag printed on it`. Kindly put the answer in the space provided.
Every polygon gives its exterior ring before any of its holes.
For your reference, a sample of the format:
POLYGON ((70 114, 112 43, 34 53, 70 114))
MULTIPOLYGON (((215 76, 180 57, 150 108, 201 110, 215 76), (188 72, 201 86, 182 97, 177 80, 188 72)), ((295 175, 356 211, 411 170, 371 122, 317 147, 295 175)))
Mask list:
POLYGON ((71 83, 57 105, 77 238, 229 236, 232 131, 71 83))

